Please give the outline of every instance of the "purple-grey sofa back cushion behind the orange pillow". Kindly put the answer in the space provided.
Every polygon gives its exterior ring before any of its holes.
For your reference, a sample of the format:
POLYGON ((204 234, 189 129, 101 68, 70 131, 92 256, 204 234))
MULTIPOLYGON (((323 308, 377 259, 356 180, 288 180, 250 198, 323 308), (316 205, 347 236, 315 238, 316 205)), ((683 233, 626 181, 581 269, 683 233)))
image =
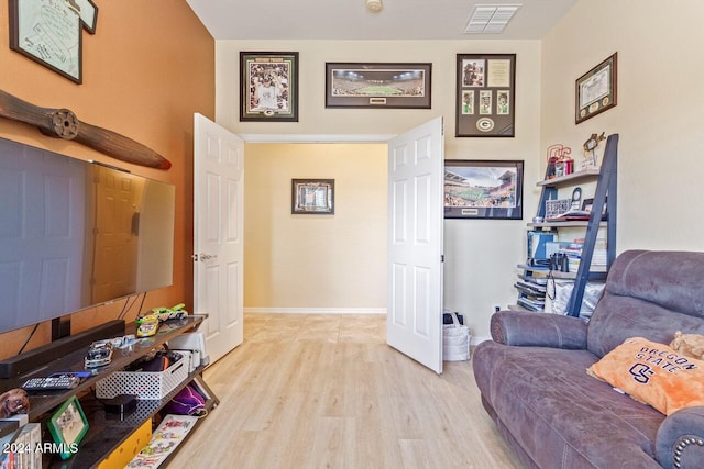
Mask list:
POLYGON ((600 358, 629 337, 704 334, 704 253, 627 250, 613 264, 587 331, 600 358))

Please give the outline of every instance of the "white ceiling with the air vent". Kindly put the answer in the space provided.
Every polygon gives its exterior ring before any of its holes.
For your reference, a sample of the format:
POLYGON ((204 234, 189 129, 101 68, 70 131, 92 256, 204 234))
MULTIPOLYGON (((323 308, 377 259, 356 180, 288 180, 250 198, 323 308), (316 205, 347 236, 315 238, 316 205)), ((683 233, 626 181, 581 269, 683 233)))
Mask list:
POLYGON ((186 0, 216 40, 539 40, 578 0, 186 0), (521 5, 501 34, 464 34, 475 5, 521 5))

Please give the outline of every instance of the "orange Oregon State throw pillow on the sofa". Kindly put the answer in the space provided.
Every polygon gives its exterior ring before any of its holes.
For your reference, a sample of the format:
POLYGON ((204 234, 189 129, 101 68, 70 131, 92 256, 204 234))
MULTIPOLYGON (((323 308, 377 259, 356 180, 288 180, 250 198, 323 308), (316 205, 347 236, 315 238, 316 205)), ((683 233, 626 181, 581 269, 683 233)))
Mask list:
POLYGON ((666 415, 704 405, 704 361, 642 337, 626 339, 586 372, 666 415))

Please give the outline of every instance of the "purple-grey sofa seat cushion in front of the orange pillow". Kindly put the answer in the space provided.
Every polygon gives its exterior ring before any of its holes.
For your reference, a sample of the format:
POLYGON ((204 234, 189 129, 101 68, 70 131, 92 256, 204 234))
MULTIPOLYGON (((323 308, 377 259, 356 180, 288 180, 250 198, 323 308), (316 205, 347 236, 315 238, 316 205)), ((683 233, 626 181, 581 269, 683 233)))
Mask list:
POLYGON ((487 340, 472 360, 495 417, 538 467, 613 467, 616 448, 627 467, 660 467, 653 445, 664 415, 587 376, 593 354, 487 340))

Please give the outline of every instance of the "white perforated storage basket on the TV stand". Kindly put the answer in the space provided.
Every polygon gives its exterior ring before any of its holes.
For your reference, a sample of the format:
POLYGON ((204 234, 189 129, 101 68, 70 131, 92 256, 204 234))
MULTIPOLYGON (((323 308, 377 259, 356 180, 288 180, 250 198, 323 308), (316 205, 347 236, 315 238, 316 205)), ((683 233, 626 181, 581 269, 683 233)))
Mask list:
POLYGON ((138 400, 163 399, 188 378, 190 351, 178 351, 182 358, 164 371, 117 371, 96 383, 98 399, 133 394, 138 400))

